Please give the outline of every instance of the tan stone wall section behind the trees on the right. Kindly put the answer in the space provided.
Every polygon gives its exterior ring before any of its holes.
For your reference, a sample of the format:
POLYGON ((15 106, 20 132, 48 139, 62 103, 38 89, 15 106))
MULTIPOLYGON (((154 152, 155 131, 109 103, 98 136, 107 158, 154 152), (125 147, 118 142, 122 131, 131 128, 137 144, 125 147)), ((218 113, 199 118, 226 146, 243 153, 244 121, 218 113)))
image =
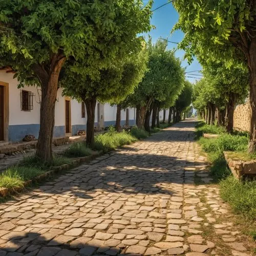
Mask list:
POLYGON ((234 110, 234 130, 250 132, 251 108, 247 101, 245 104, 236 106, 234 110))

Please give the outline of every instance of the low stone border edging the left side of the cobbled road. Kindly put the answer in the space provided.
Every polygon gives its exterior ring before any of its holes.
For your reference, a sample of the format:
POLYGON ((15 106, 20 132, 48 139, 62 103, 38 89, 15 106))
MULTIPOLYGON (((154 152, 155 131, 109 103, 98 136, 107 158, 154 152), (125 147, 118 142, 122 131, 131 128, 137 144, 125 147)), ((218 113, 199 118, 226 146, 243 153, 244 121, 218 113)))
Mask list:
POLYGON ((48 172, 43 173, 37 177, 34 177, 31 180, 24 181, 23 187, 12 187, 12 188, 0 187, 0 197, 4 198, 9 195, 13 195, 15 193, 19 193, 23 191, 26 187, 30 186, 33 182, 39 182, 39 181, 45 180, 47 177, 50 177, 55 173, 59 173, 59 172, 62 172, 63 170, 71 169, 81 163, 89 163, 90 161, 94 160, 95 158, 101 155, 103 155, 103 151, 93 152, 93 154, 90 156, 73 159, 71 161, 72 162, 71 164, 62 164, 60 166, 53 166, 52 169, 50 169, 48 172))

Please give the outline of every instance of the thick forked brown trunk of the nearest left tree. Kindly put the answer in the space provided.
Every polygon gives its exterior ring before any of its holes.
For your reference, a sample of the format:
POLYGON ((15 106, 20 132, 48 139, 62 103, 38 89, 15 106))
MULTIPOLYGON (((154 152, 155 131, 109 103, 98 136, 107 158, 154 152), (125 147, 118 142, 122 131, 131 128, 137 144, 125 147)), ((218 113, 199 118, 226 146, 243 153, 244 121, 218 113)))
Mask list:
POLYGON ((35 156, 41 161, 52 162, 52 139, 55 121, 55 102, 58 90, 60 70, 66 58, 61 54, 52 54, 50 71, 47 73, 40 65, 34 65, 33 71, 41 85, 40 130, 35 156))

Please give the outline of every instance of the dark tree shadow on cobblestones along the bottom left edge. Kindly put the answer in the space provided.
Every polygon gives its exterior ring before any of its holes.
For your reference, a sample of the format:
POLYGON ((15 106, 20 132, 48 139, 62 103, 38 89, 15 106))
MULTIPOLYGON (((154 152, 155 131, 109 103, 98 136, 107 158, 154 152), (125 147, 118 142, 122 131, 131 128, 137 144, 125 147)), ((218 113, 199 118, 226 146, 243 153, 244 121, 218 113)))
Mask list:
MULTIPOLYGON (((96 231, 79 228, 81 234, 77 237, 65 235, 66 231, 57 228, 44 228, 40 232, 10 232, 8 242, 0 247, 0 255, 27 255, 27 256, 75 256, 75 255, 127 255, 124 251, 129 246, 122 244, 119 239, 113 239, 113 233, 105 233, 103 240, 93 238, 96 231), (43 233, 41 233, 43 232, 43 233), (108 241, 106 241, 109 238, 108 241), (13 254, 12 254, 13 253, 13 254), (122 254, 123 253, 123 254, 122 254)), ((104 233, 100 233, 104 235, 104 233)), ((3 240, 4 241, 4 240, 3 240)), ((145 247, 144 247, 145 248, 145 247)), ((143 248, 140 249, 141 252, 143 248)), ((145 249, 144 249, 145 251, 145 249)), ((127 253, 141 255, 131 247, 127 253)))

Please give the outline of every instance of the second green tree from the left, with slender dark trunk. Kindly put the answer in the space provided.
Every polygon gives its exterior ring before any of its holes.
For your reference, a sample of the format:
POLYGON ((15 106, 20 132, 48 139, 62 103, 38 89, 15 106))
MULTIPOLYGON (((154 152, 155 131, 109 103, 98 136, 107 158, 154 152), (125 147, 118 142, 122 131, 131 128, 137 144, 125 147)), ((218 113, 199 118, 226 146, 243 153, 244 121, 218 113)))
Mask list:
MULTIPOLYGON (((96 101, 110 102, 113 104, 121 102, 128 94, 131 94, 144 73, 147 55, 144 54, 142 38, 133 38, 133 44, 123 51, 129 56, 122 54, 119 58, 112 58, 109 66, 100 69, 92 67, 86 59, 67 63, 65 76, 61 81, 63 93, 86 104, 87 109, 87 145, 94 144, 94 118, 96 101), (133 45, 135 44, 135 45, 133 45), (134 46, 134 47, 132 47, 134 46), (139 55, 136 56, 136 55, 139 55), (137 57, 137 59, 136 59, 137 57), (144 61, 144 62, 143 62, 144 61), (140 65, 142 65, 140 67, 140 65), (93 72, 90 73, 90 70, 93 72), (74 87, 74 83, 77 86, 74 87)), ((105 61, 103 59, 102 61, 105 61)))

